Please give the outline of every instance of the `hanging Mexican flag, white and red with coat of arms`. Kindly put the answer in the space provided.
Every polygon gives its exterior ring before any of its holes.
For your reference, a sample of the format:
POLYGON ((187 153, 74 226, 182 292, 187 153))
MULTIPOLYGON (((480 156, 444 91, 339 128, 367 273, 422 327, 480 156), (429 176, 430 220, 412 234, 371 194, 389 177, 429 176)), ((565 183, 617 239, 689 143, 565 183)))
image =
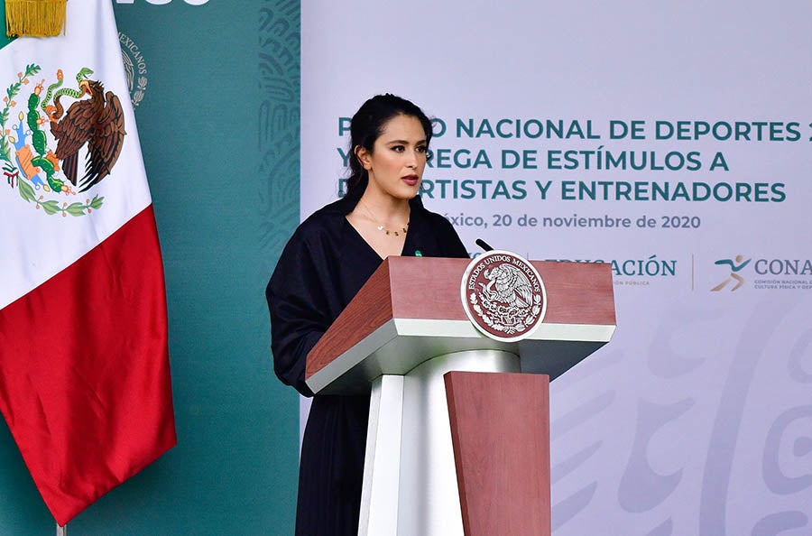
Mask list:
POLYGON ((0 38, 0 411, 60 525, 174 446, 166 298, 111 0, 0 38))

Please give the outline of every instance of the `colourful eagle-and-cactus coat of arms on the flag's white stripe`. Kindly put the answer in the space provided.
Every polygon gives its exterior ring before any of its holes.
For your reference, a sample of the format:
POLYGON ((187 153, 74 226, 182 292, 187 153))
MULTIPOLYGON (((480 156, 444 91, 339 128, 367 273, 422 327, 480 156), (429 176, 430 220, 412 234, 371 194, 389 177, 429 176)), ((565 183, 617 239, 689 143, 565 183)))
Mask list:
POLYGON ((36 64, 26 66, 5 90, 0 111, 3 174, 20 198, 45 214, 85 216, 102 207, 104 198, 91 198, 88 189, 110 174, 124 145, 121 102, 91 79, 91 69, 78 70, 77 88, 65 86, 61 69, 51 84, 46 79, 32 83, 41 70, 36 64), (72 102, 63 103, 63 98, 72 102), (81 172, 79 162, 84 163, 81 172))

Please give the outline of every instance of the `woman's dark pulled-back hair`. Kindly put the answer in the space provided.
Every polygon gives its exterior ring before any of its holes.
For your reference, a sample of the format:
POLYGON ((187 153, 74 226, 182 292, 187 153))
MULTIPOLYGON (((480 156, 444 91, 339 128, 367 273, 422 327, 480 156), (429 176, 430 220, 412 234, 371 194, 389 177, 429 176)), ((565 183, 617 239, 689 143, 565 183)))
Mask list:
POLYGON ((364 166, 355 155, 355 147, 360 145, 372 153, 375 140, 383 134, 383 125, 386 125, 386 122, 394 116, 416 117, 426 133, 426 147, 428 148, 431 141, 431 120, 423 113, 420 106, 391 93, 370 98, 358 108, 350 123, 350 175, 346 180, 347 192, 360 184, 366 184, 366 181, 369 180, 367 171, 364 170, 364 166))

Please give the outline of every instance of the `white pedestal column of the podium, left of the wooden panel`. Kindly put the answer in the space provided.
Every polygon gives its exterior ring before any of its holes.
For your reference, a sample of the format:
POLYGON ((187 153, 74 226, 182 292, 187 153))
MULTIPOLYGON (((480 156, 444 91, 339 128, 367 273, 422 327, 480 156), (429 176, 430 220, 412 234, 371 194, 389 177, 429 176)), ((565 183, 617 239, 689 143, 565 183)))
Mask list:
POLYGON ((361 496, 361 536, 463 536, 443 374, 520 372, 502 350, 437 356, 373 382, 361 496))

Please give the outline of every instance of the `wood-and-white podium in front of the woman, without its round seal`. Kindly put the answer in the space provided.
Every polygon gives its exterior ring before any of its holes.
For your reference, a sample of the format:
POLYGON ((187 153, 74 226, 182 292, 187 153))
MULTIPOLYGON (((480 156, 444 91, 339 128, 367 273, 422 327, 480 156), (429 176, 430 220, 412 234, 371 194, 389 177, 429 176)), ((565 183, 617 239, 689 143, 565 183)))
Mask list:
POLYGON ((546 316, 506 343, 466 317, 468 263, 389 257, 309 353, 314 393, 371 393, 361 535, 549 535, 549 380, 612 337, 611 267, 533 262, 546 316))

